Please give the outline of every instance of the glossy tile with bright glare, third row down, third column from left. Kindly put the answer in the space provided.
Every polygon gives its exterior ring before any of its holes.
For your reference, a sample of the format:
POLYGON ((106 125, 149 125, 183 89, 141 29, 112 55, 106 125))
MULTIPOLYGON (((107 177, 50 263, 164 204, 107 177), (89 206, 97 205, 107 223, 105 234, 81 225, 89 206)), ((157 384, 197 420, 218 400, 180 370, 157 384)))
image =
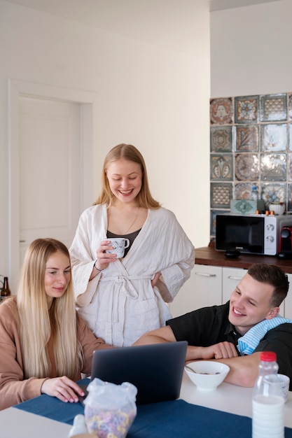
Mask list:
POLYGON ((286 154, 262 154, 260 172, 263 181, 286 181, 286 154))

